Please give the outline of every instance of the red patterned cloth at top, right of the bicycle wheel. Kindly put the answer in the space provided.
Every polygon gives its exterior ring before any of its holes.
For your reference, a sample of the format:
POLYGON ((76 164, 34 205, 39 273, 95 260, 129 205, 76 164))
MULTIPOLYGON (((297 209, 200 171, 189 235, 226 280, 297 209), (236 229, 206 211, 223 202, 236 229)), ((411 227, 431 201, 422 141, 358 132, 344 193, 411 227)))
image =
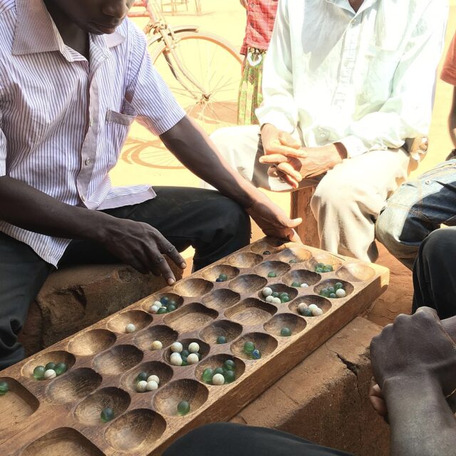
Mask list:
POLYGON ((241 53, 246 54, 247 48, 266 51, 271 41, 274 21, 276 19, 278 0, 248 0, 247 26, 241 53))

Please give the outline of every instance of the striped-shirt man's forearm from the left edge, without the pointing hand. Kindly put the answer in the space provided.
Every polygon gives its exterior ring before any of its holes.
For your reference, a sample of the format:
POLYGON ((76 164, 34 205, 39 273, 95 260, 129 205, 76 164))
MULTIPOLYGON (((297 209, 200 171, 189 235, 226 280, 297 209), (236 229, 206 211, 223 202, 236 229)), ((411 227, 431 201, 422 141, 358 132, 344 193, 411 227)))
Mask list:
POLYGON ((32 232, 67 239, 101 239, 111 219, 74 207, 11 177, 0 177, 0 219, 32 232))

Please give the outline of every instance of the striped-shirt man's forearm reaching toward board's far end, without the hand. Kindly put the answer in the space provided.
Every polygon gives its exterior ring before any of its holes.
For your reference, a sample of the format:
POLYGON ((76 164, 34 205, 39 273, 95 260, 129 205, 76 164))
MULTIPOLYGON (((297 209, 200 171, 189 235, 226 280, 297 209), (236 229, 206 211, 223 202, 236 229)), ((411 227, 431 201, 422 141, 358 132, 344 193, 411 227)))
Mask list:
POLYGON ((262 195, 229 166, 206 133, 190 118, 183 118, 160 138, 185 167, 243 207, 251 206, 262 195))

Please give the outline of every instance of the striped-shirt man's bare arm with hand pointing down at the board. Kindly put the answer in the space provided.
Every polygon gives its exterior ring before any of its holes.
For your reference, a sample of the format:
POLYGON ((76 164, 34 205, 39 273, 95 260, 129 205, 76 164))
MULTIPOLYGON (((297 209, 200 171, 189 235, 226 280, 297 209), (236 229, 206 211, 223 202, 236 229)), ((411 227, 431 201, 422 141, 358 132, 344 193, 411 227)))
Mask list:
POLYGON ((0 177, 0 219, 48 236, 100 242, 119 261, 143 273, 162 274, 168 284, 175 276, 162 254, 185 268, 175 247, 150 225, 64 204, 7 176, 0 177))

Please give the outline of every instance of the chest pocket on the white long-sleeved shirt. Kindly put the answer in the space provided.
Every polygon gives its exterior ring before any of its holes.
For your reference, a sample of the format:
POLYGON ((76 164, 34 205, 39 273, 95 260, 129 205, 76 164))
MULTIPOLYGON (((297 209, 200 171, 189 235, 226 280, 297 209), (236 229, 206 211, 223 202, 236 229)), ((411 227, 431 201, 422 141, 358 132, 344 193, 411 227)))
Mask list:
POLYGON ((393 90, 393 79, 399 62, 399 51, 374 45, 368 47, 363 95, 371 103, 385 103, 390 98, 393 90))

